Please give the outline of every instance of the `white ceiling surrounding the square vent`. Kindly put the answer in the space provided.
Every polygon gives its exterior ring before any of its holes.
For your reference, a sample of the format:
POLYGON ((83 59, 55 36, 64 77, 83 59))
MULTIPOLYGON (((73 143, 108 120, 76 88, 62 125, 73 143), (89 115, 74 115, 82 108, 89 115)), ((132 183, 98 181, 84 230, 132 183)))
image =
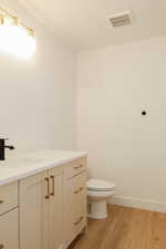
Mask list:
POLYGON ((165 0, 17 1, 76 51, 166 34, 165 0), (133 25, 111 28, 107 18, 127 10, 133 12, 133 25))

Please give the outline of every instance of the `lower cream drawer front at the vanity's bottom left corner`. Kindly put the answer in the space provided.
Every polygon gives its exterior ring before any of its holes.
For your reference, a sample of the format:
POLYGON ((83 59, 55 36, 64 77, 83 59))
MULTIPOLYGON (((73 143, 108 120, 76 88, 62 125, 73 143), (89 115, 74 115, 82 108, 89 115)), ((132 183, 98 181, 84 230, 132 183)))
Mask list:
POLYGON ((0 216, 0 248, 19 249, 18 208, 0 216))

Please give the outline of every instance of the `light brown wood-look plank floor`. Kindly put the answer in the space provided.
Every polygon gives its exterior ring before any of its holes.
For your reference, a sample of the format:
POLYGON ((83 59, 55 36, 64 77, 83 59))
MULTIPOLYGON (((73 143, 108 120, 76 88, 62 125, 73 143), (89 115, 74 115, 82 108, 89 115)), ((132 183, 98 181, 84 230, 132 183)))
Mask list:
POLYGON ((69 249, 166 249, 166 214, 113 206, 69 249))

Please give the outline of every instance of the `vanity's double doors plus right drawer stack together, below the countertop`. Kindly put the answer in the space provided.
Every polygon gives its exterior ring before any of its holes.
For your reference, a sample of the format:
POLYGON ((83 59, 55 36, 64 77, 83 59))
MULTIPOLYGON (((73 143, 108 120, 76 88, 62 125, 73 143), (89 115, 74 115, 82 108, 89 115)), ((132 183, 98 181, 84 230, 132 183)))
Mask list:
POLYGON ((20 180, 20 248, 66 249, 86 227, 86 163, 20 180))

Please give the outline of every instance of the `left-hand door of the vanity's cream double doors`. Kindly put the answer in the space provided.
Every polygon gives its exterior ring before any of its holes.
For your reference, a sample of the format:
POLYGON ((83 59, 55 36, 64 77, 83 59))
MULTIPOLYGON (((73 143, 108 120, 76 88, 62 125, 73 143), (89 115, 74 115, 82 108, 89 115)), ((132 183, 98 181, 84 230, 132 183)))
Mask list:
POLYGON ((48 172, 20 181, 20 248, 48 249, 48 172))

